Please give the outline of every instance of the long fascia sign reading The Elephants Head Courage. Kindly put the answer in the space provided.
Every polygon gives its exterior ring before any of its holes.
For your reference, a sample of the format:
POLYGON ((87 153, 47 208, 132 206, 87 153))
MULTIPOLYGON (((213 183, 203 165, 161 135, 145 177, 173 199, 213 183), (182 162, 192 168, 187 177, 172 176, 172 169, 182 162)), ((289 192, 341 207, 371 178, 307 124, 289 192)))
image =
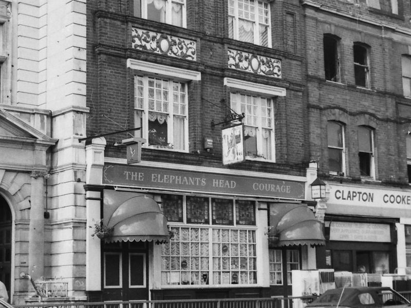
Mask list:
POLYGON ((305 182, 140 165, 106 163, 102 183, 111 186, 221 195, 305 199, 305 182))

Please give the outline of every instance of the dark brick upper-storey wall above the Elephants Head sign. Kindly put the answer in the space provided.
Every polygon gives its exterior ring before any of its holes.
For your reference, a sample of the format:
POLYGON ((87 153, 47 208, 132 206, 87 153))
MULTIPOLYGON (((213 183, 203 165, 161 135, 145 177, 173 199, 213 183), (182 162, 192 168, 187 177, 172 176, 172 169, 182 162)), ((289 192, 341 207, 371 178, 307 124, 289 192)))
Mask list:
MULTIPOLYGON (((211 126, 224 120, 230 112, 230 89, 223 85, 224 78, 282 87, 286 98, 275 100, 276 163, 239 164, 234 168, 247 168, 269 172, 304 175, 302 167, 308 162, 307 114, 304 111, 304 49, 298 42, 301 35, 301 7, 296 1, 273 2, 272 45, 266 48, 228 38, 227 2, 186 2, 186 28, 157 23, 133 16, 133 1, 87 2, 87 106, 90 114, 87 135, 129 129, 134 123, 134 74, 126 68, 126 59, 135 59, 181 69, 201 72, 201 81, 189 82, 189 152, 143 149, 144 160, 192 163, 221 167, 221 126, 211 126), (288 15, 287 15, 288 14, 288 15), (287 21, 287 16, 292 18, 287 21), (293 27, 292 35, 282 31, 293 27), (184 60, 150 51, 132 48, 132 27, 196 42, 196 61, 184 60), (289 35, 289 36, 286 36, 289 35), (286 43, 287 42, 287 43, 286 43), (282 78, 229 69, 228 48, 282 61, 282 78), (214 148, 203 148, 204 138, 212 138, 214 148), (300 167, 295 165, 300 164, 300 167), (288 166, 288 167, 287 167, 288 166)), ((107 137, 105 155, 125 157, 124 147, 114 147, 115 141, 128 137, 107 137)))

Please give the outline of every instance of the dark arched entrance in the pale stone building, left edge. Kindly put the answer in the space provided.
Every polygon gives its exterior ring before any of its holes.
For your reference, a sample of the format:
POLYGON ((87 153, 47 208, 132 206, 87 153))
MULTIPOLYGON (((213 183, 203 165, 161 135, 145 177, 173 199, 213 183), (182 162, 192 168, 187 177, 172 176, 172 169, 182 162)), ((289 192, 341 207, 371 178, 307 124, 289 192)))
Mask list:
POLYGON ((9 293, 11 284, 11 220, 9 204, 0 196, 0 280, 4 282, 9 293))

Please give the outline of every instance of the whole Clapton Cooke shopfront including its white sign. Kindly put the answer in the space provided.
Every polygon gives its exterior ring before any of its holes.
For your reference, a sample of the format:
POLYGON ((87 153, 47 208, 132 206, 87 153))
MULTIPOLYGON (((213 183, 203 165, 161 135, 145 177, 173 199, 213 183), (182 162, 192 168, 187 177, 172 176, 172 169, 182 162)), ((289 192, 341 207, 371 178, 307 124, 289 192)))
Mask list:
POLYGON ((327 183, 326 245, 319 248, 318 268, 405 274, 411 197, 409 189, 384 188, 327 183))

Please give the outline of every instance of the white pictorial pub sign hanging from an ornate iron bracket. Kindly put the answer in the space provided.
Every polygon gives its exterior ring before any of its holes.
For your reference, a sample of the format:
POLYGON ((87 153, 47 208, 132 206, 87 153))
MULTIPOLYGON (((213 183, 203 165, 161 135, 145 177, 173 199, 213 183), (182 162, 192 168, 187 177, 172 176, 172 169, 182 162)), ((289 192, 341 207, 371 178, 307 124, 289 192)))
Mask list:
POLYGON ((244 127, 242 123, 221 130, 222 164, 230 165, 245 161, 244 127))

